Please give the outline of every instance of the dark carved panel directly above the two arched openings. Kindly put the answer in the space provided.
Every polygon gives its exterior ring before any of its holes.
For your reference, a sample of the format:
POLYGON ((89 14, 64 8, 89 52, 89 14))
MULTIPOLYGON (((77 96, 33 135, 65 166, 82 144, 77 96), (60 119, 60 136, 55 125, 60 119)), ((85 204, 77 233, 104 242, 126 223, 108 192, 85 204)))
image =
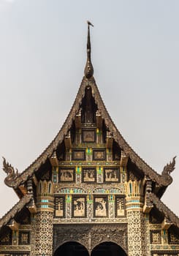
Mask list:
POLYGON ((113 241, 127 252, 126 225, 54 225, 53 251, 67 241, 77 241, 91 251, 104 241, 113 241))

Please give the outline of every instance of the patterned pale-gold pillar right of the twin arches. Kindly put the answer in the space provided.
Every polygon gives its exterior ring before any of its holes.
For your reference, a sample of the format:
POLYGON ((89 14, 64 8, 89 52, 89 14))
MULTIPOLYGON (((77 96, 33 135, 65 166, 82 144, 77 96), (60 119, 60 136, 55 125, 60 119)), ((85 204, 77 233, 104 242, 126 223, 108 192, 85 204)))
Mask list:
POLYGON ((145 219, 142 213, 142 182, 126 182, 126 212, 128 219, 129 256, 146 255, 145 219))

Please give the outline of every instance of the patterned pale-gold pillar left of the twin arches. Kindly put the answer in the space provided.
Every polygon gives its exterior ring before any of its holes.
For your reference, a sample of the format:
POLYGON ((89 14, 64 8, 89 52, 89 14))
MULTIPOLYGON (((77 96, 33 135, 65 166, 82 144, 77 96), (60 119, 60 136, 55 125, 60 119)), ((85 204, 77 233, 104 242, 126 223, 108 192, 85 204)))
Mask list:
POLYGON ((31 255, 51 256, 53 254, 53 184, 51 181, 39 181, 37 214, 33 225, 36 225, 35 251, 31 255))

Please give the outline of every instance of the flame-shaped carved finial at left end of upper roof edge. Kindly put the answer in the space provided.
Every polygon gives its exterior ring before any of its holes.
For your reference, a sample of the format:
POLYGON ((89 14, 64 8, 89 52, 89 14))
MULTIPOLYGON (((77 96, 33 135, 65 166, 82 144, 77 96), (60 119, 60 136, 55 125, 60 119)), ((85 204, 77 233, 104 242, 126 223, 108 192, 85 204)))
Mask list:
POLYGON ((12 165, 7 162, 7 160, 3 157, 3 168, 5 173, 7 173, 7 177, 4 179, 5 184, 10 187, 10 184, 15 178, 19 176, 18 169, 14 169, 12 165))

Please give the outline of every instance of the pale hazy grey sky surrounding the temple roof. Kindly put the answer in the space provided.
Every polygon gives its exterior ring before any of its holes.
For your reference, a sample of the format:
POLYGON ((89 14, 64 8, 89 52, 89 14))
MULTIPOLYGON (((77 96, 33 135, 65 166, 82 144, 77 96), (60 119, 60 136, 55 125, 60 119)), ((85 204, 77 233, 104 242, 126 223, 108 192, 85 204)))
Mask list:
MULTIPOLYGON (((48 146, 83 78, 86 20, 94 78, 110 116, 158 173, 179 215, 179 1, 0 0, 0 156, 22 172, 48 146)), ((2 160, 0 162, 2 169, 2 160)), ((0 217, 18 201, 0 172, 0 217)))

